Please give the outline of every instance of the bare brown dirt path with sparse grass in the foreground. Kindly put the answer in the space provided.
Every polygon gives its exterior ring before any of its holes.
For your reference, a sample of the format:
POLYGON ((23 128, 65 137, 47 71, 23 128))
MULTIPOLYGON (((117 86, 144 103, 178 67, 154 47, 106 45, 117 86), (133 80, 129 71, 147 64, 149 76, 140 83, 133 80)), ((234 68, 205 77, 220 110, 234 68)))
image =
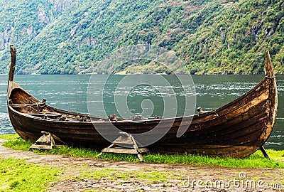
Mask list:
POLYGON ((136 164, 38 155, 32 151, 8 149, 2 146, 3 142, 0 139, 0 158, 26 159, 31 164, 63 169, 60 181, 51 183, 48 191, 284 191, 283 169, 136 164), (104 172, 107 174, 100 177, 92 175, 104 172))

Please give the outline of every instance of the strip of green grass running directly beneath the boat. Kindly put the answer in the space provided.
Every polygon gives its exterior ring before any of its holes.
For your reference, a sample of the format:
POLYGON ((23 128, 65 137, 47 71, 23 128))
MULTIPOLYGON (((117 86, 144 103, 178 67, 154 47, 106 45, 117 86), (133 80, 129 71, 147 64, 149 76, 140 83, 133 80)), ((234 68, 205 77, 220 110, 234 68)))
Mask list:
MULTIPOLYGON (((4 146, 12 149, 28 150, 31 146, 30 142, 24 142, 19 137, 2 136, 3 139, 9 141, 4 142, 4 146), (11 139, 10 139, 11 138, 11 139), (16 139, 15 139, 16 138, 16 139)), ((34 150, 39 154, 62 154, 69 156, 80 156, 88 158, 96 158, 100 151, 87 148, 76 148, 70 146, 64 146, 59 149, 53 149, 50 151, 34 150)), ((224 166, 233 168, 275 168, 284 169, 284 151, 274 151, 272 149, 267 150, 271 159, 266 159, 261 154, 261 151, 251 154, 244 159, 233 159, 229 157, 210 157, 202 155, 168 155, 168 154, 143 154, 143 159, 148 163, 157 164, 189 164, 198 166, 224 166)), ((115 161, 131 161, 139 162, 136 155, 131 154, 109 154, 104 153, 99 156, 99 159, 115 160, 115 161)))

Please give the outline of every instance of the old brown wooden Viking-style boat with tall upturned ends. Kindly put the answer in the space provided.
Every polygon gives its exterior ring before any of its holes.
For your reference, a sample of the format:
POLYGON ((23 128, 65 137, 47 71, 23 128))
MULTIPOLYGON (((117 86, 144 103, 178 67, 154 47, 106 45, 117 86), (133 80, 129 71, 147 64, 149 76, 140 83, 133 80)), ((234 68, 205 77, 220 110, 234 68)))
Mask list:
MULTIPOLYGON (((273 130, 277 114, 276 81, 268 51, 263 80, 229 104, 189 117, 146 119, 141 123, 134 122, 134 119, 113 118, 114 121, 111 121, 111 117, 95 117, 50 107, 13 81, 15 65, 16 50, 11 46, 7 96, 9 117, 18 135, 31 142, 45 131, 67 144, 87 144, 101 149, 110 143, 94 127, 107 133, 111 126, 115 126, 122 132, 139 134, 159 124, 159 128, 151 134, 163 132, 163 129, 168 131, 157 142, 147 146, 151 151, 243 158, 263 146, 273 130), (186 130, 177 137, 180 127, 186 130)), ((114 138, 117 137, 119 135, 114 135, 114 138)))

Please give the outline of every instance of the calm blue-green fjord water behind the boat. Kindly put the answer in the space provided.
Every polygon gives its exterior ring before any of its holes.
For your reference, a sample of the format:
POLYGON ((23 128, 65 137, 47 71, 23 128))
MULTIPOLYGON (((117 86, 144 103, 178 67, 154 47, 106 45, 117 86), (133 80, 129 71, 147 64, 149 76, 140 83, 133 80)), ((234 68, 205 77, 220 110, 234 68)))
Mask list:
MULTIPOLYGON (((185 104, 185 95, 193 98, 192 86, 188 85, 189 92, 182 92, 179 80, 170 75, 166 79, 169 85, 161 84, 158 88, 145 85, 141 77, 143 75, 133 75, 133 85, 137 85, 129 89, 123 85, 116 90, 118 83, 124 78, 123 75, 114 75, 105 83, 105 75, 94 75, 92 80, 92 102, 98 106, 92 114, 121 114, 116 110, 118 99, 114 95, 128 95, 125 97, 129 112, 132 114, 143 114, 145 117, 167 116, 165 115, 165 105, 173 106, 172 102, 163 102, 165 98, 172 100, 173 90, 176 93, 178 102, 178 112, 176 116, 182 115, 185 104), (137 82, 135 82, 137 81, 137 82), (140 84, 143 85, 138 85, 140 84), (104 85, 104 86, 102 86, 104 85), (127 92, 126 90, 129 90, 127 92), (114 94, 115 93, 115 94, 114 94), (117 100, 116 100, 117 99, 117 100), (146 102, 144 102, 146 100, 146 102), (150 101, 151 100, 151 101, 150 101), (99 107, 99 106, 104 107, 99 107), (146 109, 146 110, 143 110, 146 109)), ((89 85, 90 75, 16 75, 14 80, 23 88, 28 90, 32 95, 42 100, 47 99, 48 105, 58 107, 64 110, 87 113, 87 89, 89 85)), ((144 76, 148 82, 151 82, 149 76, 144 76)), ((186 79, 187 76, 181 76, 180 79, 186 79)), ((192 75, 195 82, 196 105, 201 106, 204 110, 214 110, 235 98, 243 95, 245 92, 255 86, 261 79, 262 75, 192 75)), ((14 133, 9 115, 6 109, 6 86, 8 75, 0 75, 0 134, 14 133)), ((266 148, 284 149, 284 76, 277 76, 278 83, 278 116, 276 119, 273 134, 266 142, 266 148)), ((89 96, 88 96, 89 97, 89 96)), ((89 100, 88 100, 89 101, 89 100)), ((168 110, 167 110, 168 111, 168 110)), ((129 112, 121 114, 128 115, 129 112)), ((193 111, 188 111, 192 113, 193 111)), ((123 112, 122 112, 123 113, 123 112)), ((175 112, 174 112, 175 113, 175 112)), ((171 114, 168 114, 170 116, 171 114)))

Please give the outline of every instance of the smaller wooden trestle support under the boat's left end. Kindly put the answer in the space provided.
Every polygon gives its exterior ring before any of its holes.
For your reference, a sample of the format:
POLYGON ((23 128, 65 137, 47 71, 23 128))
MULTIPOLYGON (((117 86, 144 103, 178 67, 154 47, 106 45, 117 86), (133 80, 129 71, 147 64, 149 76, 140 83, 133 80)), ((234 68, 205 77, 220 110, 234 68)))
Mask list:
POLYGON ((30 149, 54 149, 56 147, 62 147, 66 144, 54 134, 50 134, 49 132, 44 131, 42 131, 41 133, 43 135, 30 146, 30 149), (55 144, 55 141, 60 142, 61 144, 55 144))

